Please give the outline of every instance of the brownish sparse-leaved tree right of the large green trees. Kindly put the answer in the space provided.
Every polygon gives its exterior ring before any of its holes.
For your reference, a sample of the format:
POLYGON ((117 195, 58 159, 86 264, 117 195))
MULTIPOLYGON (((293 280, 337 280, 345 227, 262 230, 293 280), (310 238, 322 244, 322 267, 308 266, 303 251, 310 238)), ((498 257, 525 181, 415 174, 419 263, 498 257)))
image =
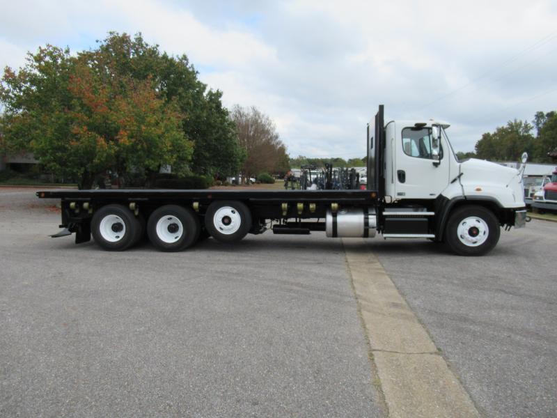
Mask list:
POLYGON ((242 173, 247 178, 259 173, 285 173, 288 154, 282 141, 278 139, 276 127, 269 116, 256 107, 233 107, 231 120, 236 125, 238 141, 246 152, 242 173))

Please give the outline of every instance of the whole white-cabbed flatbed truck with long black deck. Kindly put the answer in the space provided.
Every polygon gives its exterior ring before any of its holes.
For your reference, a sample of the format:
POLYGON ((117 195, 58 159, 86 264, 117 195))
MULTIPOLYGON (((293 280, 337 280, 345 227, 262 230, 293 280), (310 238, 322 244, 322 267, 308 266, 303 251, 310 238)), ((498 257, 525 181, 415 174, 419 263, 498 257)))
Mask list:
MULTIPOLYGON (((61 199, 64 231, 110 251, 130 248, 146 231, 162 251, 180 251, 211 235, 236 242, 247 233, 328 237, 427 238, 456 254, 486 254, 501 226, 525 225, 520 170, 481 160, 459 162, 439 121, 389 121, 379 106, 368 124, 366 189, 354 169, 306 167, 300 189, 47 190, 61 199), (309 187, 308 187, 309 185, 309 187), (312 187, 315 185, 315 187, 312 187), (147 219, 147 222, 145 222, 147 219), (316 220, 315 220, 316 219, 316 220)), ((285 183, 288 186, 288 183, 285 183)), ((293 183, 290 185, 293 186, 293 183)))

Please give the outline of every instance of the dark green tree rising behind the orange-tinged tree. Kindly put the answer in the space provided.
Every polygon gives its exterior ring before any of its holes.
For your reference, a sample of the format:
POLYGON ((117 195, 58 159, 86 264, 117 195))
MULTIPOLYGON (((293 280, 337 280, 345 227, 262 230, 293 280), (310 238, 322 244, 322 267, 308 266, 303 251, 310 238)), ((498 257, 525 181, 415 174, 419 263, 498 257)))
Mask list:
POLYGON ((148 45, 141 33, 133 38, 116 32, 93 54, 104 67, 133 79, 152 77, 152 84, 168 102, 175 102, 182 129, 194 141, 191 170, 198 174, 228 176, 240 169, 246 155, 239 146, 235 124, 221 103, 221 91, 207 89, 185 54, 169 56, 158 45, 148 45))

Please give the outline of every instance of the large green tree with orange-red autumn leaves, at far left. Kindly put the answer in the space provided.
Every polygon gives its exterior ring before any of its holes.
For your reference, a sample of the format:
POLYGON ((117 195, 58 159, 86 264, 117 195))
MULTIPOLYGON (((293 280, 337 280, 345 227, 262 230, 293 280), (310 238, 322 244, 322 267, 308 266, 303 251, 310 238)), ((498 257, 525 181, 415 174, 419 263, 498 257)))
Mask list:
POLYGON ((0 98, 10 150, 33 152, 81 188, 108 169, 124 176, 189 161, 193 144, 175 105, 150 79, 123 77, 90 57, 47 45, 19 72, 6 68, 0 98))

